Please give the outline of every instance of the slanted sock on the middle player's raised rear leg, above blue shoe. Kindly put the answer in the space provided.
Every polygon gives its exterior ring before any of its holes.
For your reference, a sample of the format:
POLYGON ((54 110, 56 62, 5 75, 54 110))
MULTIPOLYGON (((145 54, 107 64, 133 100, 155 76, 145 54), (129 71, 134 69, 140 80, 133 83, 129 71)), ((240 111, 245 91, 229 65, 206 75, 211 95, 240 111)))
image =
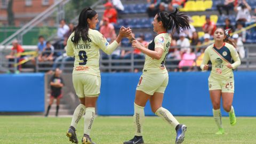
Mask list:
POLYGON ((156 115, 162 117, 165 122, 172 125, 174 128, 179 124, 177 119, 170 113, 170 111, 163 107, 156 110, 156 115))

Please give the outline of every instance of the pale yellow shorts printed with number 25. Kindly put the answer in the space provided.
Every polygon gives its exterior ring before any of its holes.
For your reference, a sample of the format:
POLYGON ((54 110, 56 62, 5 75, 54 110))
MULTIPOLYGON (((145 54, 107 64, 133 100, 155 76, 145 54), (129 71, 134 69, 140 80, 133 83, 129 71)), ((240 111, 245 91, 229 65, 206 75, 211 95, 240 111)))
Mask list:
POLYGON ((234 90, 235 90, 234 78, 219 80, 210 76, 208 78, 208 82, 209 82, 209 91, 221 90, 221 92, 234 93, 234 90))

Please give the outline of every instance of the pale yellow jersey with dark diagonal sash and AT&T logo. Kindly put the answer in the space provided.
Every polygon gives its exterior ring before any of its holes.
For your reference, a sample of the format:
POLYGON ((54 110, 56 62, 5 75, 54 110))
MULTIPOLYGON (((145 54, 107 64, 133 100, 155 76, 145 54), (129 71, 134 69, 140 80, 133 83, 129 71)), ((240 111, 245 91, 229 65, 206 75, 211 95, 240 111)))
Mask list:
POLYGON ((218 50, 214 44, 208 46, 204 52, 201 69, 203 69, 204 65, 207 65, 209 60, 212 62, 212 71, 210 76, 215 79, 233 78, 233 70, 228 68, 226 65, 231 63, 232 60, 235 61, 231 64, 233 69, 237 68, 241 64, 235 47, 229 43, 224 43, 220 50, 218 50))

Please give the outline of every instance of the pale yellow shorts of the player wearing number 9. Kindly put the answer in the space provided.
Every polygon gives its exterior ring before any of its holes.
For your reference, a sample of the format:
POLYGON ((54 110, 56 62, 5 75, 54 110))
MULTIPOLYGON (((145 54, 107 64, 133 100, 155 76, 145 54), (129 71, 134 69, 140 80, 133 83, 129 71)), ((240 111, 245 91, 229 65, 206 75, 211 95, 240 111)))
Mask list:
POLYGON ((100 77, 90 74, 73 74, 73 85, 79 98, 98 97, 100 94, 100 77))

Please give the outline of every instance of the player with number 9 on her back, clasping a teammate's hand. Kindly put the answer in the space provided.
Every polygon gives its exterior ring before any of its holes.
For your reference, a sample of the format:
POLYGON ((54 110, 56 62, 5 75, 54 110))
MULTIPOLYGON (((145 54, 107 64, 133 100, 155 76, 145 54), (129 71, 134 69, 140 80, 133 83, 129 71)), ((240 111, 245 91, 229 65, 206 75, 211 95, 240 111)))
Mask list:
POLYGON ((106 38, 95 29, 98 23, 98 14, 90 7, 86 7, 79 15, 78 25, 69 36, 67 55, 75 56, 73 69, 73 85, 81 102, 74 111, 71 125, 67 132, 69 141, 78 143, 76 137, 77 123, 85 113, 84 136, 82 143, 91 144, 89 137, 95 116, 95 105, 100 94, 99 50, 107 54, 113 52, 123 37, 131 34, 130 28, 122 27, 119 35, 109 45, 106 38))

